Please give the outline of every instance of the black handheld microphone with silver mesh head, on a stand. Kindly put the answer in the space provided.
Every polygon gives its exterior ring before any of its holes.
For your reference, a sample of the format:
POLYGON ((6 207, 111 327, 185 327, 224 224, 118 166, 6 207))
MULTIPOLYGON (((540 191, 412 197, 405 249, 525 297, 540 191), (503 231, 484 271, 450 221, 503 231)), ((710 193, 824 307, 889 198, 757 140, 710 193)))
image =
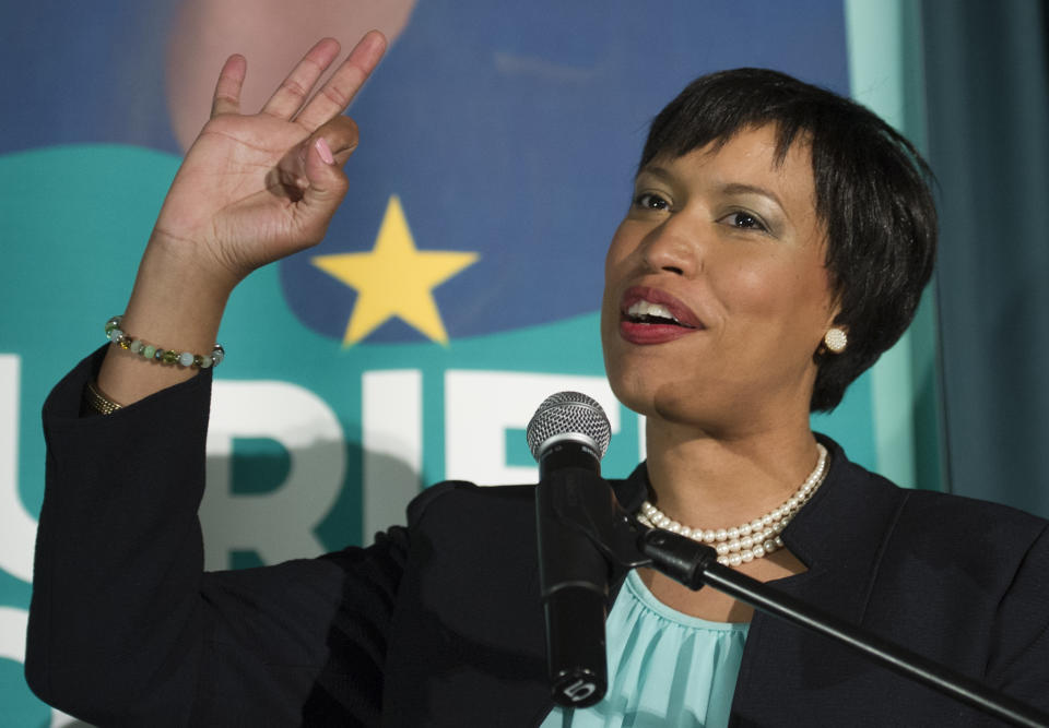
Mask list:
POLYGON ((529 450, 539 462, 535 529, 546 670, 554 702, 566 707, 593 705, 608 688, 609 564, 584 533, 558 517, 554 502, 557 489, 575 479, 601 477, 611 435, 601 405, 578 392, 546 397, 527 430, 529 450))

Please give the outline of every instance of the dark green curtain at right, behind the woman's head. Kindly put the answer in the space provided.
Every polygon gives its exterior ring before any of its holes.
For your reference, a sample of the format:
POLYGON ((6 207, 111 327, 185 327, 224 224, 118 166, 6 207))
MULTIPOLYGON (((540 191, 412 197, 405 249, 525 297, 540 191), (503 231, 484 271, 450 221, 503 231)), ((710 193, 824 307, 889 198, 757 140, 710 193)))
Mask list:
POLYGON ((924 0, 952 492, 1049 516, 1049 12, 924 0))

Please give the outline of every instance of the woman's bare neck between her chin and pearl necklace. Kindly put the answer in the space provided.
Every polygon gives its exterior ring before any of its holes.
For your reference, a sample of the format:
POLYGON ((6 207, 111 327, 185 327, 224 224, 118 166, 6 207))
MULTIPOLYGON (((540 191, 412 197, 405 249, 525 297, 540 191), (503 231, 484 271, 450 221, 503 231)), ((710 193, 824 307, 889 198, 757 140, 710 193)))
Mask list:
POLYGON ((694 528, 727 527, 776 508, 818 457, 808 421, 729 438, 650 418, 646 438, 656 504, 694 528))

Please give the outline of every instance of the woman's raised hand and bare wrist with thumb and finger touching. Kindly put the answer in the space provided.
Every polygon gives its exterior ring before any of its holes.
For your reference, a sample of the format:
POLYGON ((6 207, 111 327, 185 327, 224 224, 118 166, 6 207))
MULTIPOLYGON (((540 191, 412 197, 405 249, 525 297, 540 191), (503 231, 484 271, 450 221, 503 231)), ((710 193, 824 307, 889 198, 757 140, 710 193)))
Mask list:
MULTIPOLYGON (((339 55, 326 38, 254 116, 239 108, 247 61, 225 62, 211 119, 175 176, 139 266, 126 332, 165 349, 208 353, 244 276, 320 241, 346 191, 342 164, 357 145, 357 127, 342 111, 385 50, 382 34, 368 33, 310 98, 339 55)), ((99 312, 99 321, 111 313, 99 312)), ((98 387, 127 405, 195 373, 111 346, 98 387)))

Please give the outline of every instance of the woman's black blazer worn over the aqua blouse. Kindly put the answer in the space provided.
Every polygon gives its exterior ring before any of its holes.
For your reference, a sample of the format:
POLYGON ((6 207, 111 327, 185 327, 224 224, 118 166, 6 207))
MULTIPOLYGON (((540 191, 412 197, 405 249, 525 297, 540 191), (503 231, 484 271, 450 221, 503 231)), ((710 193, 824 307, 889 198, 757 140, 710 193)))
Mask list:
MULTIPOLYGON (((47 490, 26 673, 101 726, 535 726, 544 683, 533 488, 435 486, 368 548, 203 573, 210 375, 80 417, 99 355, 44 410, 47 490)), ((1049 529, 901 490, 835 443, 774 582, 1049 711, 1049 529)), ((644 465, 613 481, 645 497, 644 465)), ((622 577, 622 574, 620 575, 622 577)), ((823 637, 755 614, 733 726, 988 723, 823 637)))

